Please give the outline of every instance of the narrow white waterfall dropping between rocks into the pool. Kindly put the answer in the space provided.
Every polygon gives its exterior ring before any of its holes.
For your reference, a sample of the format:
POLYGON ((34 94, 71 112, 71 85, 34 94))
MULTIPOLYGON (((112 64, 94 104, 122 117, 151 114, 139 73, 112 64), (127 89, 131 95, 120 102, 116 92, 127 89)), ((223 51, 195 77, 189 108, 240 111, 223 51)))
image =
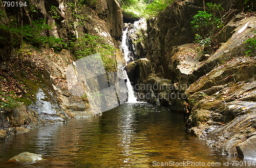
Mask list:
MULTIPOLYGON (((128 46, 126 45, 127 31, 128 31, 128 27, 126 28, 125 31, 123 31, 123 38, 122 38, 122 47, 123 47, 124 60, 125 60, 126 65, 129 62, 129 57, 128 57, 129 49, 128 49, 128 46)), ((125 69, 123 69, 123 72, 124 72, 124 76, 127 79, 127 81, 126 81, 126 87, 127 87, 127 93, 128 93, 128 101, 127 102, 135 103, 135 102, 137 102, 137 98, 135 97, 131 81, 130 81, 125 69)))

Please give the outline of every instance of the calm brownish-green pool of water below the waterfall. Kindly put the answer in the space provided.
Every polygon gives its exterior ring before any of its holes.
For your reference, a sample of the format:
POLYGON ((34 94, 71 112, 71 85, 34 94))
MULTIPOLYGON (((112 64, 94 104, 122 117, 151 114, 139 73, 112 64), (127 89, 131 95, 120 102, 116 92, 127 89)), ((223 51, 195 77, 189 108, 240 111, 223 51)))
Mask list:
POLYGON ((154 165, 183 161, 221 163, 197 167, 237 167, 223 163, 242 161, 220 155, 189 135, 184 125, 183 115, 172 113, 169 107, 123 103, 102 116, 40 126, 0 142, 0 167, 162 167, 154 165), (6 162, 26 151, 42 154, 46 160, 6 162))

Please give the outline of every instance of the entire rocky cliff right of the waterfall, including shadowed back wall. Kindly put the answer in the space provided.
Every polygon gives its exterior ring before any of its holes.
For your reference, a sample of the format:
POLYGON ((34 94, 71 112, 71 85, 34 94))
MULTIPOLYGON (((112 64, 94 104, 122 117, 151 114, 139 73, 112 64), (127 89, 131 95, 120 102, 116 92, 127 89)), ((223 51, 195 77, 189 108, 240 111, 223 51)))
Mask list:
POLYGON ((190 24, 200 2, 175 1, 147 20, 146 58, 126 69, 144 100, 184 111, 189 132, 223 154, 255 158, 255 49, 246 43, 255 36, 255 16, 240 13, 239 2, 220 1, 237 9, 217 34, 218 50, 202 54, 190 24))

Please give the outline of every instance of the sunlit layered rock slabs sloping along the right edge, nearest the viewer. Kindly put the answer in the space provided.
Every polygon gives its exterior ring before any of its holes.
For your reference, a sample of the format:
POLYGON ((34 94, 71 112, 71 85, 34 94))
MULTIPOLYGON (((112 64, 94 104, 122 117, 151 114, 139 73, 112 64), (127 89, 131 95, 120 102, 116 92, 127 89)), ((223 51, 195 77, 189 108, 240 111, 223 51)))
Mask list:
POLYGON ((256 131, 255 50, 252 57, 245 56, 245 41, 255 36, 255 19, 240 14, 226 25, 235 28, 232 36, 191 74, 205 73, 186 90, 188 130, 223 154, 246 158, 255 158, 255 151, 246 146, 256 131))

